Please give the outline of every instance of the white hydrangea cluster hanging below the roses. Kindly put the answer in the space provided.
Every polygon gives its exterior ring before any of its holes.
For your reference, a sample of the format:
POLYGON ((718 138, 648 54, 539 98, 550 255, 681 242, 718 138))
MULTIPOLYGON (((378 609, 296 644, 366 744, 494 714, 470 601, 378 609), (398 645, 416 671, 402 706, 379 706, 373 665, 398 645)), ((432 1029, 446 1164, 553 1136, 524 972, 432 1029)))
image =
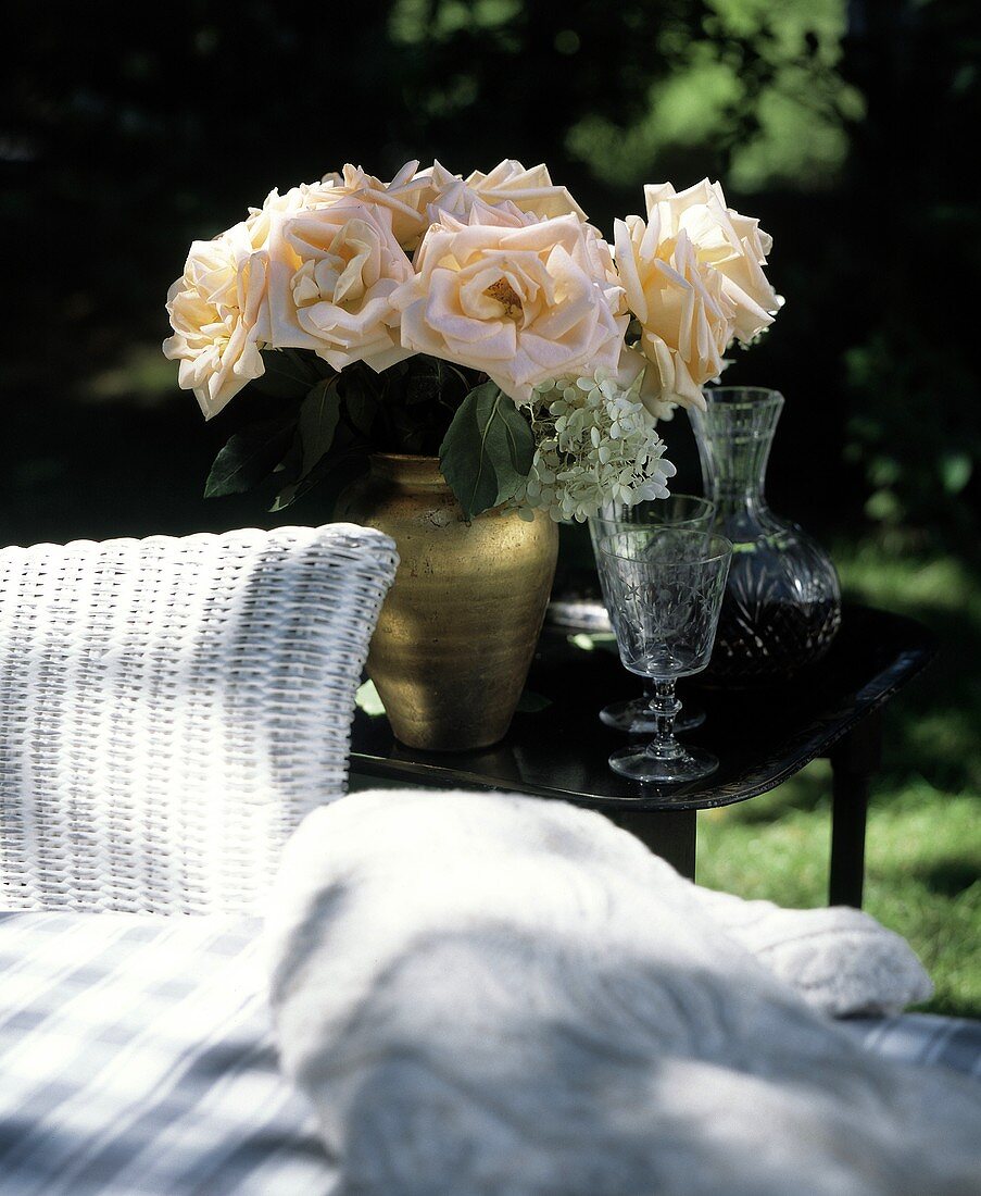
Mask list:
POLYGON ((583 523, 607 502, 633 506, 668 496, 674 465, 664 459, 656 420, 609 371, 591 378, 550 378, 522 404, 535 437, 527 480, 508 506, 522 518, 547 511, 556 523, 583 523))

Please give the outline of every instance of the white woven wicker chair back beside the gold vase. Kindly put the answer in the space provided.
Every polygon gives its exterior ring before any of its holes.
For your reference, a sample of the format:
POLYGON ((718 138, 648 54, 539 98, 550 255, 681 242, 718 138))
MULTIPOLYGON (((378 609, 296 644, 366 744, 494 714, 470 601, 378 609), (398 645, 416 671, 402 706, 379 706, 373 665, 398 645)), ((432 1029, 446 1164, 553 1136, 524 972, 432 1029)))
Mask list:
POLYGON ((259 909, 397 565, 352 524, 0 550, 0 905, 259 909))

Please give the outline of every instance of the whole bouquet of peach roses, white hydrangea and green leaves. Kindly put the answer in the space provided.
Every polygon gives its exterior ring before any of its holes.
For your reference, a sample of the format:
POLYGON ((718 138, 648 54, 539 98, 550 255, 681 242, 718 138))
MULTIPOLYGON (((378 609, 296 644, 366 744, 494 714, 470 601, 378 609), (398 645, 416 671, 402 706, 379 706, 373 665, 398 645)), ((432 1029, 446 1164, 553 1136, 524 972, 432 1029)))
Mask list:
POLYGON ((771 238, 718 183, 644 188, 612 244, 544 165, 489 175, 347 165, 277 190, 190 248, 167 358, 207 419, 277 404, 215 458, 207 494, 277 476, 288 506, 373 452, 439 454, 467 518, 583 520, 664 496, 657 422, 703 404, 781 299, 771 238))

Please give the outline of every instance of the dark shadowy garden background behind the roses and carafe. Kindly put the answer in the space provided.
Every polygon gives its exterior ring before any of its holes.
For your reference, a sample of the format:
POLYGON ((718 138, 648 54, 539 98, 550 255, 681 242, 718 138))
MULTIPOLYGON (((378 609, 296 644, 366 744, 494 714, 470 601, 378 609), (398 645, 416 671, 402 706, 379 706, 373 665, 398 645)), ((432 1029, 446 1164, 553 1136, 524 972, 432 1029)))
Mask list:
MULTIPOLYGON (((0 542, 308 523, 202 496, 160 342, 192 239, 345 161, 545 161, 612 236, 642 185, 719 179, 786 306, 726 383, 786 407, 772 506, 827 541, 977 550, 974 0, 96 4, 7 17, 0 542)), ((234 401, 232 407, 234 407, 234 401)), ((663 426, 700 482, 683 413, 663 426)))

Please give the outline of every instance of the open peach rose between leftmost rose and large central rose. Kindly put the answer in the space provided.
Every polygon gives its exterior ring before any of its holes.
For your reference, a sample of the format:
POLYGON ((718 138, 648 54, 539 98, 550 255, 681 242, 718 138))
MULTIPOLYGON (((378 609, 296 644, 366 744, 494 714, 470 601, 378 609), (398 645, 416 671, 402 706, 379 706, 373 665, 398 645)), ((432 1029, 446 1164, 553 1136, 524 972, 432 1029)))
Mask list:
POLYGON ((335 370, 364 361, 381 372, 410 356, 392 292, 412 264, 381 205, 339 199, 274 213, 270 282, 260 331, 275 348, 312 349, 335 370))

